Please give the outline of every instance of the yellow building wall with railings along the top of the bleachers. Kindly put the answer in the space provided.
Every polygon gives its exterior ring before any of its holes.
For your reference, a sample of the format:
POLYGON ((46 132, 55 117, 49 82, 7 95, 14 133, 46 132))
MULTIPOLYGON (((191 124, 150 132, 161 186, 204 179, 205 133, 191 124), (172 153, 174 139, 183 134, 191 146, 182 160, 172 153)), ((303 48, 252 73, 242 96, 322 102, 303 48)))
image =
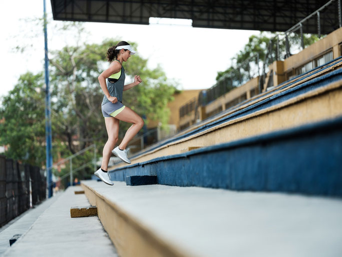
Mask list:
POLYGON ((333 31, 284 61, 274 61, 268 66, 269 71, 261 86, 259 86, 259 77, 255 77, 205 105, 196 101, 183 105, 181 107, 183 112, 180 111, 179 128, 185 129, 199 120, 236 106, 261 92, 271 90, 282 82, 308 72, 339 56, 342 56, 342 28, 333 31))

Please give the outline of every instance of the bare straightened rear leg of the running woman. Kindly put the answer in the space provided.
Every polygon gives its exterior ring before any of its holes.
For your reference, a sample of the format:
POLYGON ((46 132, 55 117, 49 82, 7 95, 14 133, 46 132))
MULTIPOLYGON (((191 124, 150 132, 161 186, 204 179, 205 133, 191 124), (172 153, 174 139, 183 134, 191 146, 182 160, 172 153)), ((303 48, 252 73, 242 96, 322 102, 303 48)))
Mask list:
POLYGON ((119 136, 119 122, 120 120, 114 117, 105 117, 106 129, 108 134, 108 141, 102 152, 101 169, 108 171, 109 159, 112 155, 112 150, 118 141, 119 136))

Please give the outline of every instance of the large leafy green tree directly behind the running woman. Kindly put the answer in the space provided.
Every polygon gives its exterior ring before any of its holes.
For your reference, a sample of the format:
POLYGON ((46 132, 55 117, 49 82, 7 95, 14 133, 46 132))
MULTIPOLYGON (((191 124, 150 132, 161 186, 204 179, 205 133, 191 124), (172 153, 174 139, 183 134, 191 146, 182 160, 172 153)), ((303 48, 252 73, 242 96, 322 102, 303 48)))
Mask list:
MULTIPOLYGON (((119 40, 105 40, 101 44, 70 47, 55 51, 51 55, 51 84, 55 97, 52 108, 60 115, 61 136, 68 142, 69 149, 75 153, 84 149, 94 140, 107 139, 101 113, 103 91, 98 75, 108 67, 107 49, 119 40), (73 138, 77 136, 78 140, 73 138), (77 145, 73 143, 77 142, 77 145)), ((137 47, 135 43, 131 43, 137 47)), ((135 54, 124 63, 126 81, 139 74, 143 80, 138 86, 124 92, 124 103, 141 116, 166 123, 167 103, 172 99, 175 87, 158 66, 151 70, 147 60, 135 54)), ((126 82, 127 83, 127 82, 126 82)), ((120 137, 124 136, 130 124, 120 122, 120 137)))

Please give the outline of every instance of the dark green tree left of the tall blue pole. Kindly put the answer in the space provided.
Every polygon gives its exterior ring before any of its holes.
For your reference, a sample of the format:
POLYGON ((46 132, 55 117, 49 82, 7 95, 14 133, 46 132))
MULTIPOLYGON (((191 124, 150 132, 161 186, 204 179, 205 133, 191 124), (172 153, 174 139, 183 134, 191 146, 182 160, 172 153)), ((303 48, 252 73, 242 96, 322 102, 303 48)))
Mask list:
POLYGON ((39 166, 45 160, 43 87, 43 73, 21 75, 0 109, 0 144, 9 146, 6 156, 39 166))

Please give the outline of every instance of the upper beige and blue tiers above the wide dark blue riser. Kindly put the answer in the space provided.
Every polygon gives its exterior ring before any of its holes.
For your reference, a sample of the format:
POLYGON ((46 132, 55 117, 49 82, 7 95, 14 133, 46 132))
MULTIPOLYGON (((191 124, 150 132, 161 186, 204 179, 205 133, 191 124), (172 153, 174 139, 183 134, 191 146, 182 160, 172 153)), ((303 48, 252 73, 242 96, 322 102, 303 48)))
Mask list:
MULTIPOLYGON (((342 60, 265 92, 218 119, 130 157, 132 164, 342 115, 342 60)), ((110 170, 126 166, 120 162, 110 170)))

